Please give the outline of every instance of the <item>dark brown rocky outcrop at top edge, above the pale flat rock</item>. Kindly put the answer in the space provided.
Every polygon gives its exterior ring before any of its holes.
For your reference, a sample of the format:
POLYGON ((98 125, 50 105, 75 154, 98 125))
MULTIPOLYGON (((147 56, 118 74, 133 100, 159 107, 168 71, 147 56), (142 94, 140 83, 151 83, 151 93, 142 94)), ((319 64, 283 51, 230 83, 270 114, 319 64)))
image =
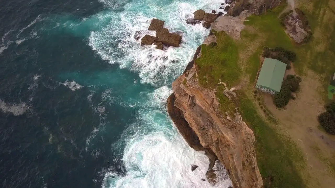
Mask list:
POLYGON ((244 10, 249 10, 253 14, 259 15, 280 4, 280 0, 236 0, 230 4, 227 15, 238 16, 244 10))

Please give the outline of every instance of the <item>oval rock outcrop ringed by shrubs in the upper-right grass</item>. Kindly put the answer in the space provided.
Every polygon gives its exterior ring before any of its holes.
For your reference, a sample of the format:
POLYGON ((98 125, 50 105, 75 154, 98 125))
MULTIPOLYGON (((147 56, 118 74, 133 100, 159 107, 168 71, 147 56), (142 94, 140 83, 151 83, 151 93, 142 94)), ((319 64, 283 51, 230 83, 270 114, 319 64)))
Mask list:
POLYGON ((304 13, 296 9, 284 18, 285 32, 296 42, 301 43, 312 36, 311 27, 304 13))

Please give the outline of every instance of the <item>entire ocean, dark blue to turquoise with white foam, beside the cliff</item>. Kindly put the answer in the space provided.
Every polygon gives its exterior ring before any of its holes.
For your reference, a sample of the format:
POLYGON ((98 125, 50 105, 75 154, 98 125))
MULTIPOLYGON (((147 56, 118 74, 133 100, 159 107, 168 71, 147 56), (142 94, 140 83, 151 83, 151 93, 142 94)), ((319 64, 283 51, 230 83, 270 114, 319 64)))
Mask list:
MULTIPOLYGON (((0 182, 19 187, 213 187, 209 160, 166 113, 171 83, 223 0, 13 0, 0 8, 0 182), (180 48, 140 46, 152 18, 180 48), (191 164, 199 167, 191 172, 191 164)), ((231 181, 217 162, 214 187, 231 181)))

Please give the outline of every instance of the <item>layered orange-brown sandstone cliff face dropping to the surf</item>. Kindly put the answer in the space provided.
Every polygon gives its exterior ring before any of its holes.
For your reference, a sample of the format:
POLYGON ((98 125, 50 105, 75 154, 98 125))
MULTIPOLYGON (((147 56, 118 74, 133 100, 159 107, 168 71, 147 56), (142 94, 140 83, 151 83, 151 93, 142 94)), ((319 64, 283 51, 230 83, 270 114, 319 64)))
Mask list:
POLYGON ((235 119, 221 114, 215 93, 199 86, 196 66, 190 62, 172 83, 175 93, 169 97, 167 108, 173 122, 192 148, 206 151, 210 159, 214 154, 211 162, 217 157, 224 164, 235 188, 261 188, 252 130, 239 114, 235 119))

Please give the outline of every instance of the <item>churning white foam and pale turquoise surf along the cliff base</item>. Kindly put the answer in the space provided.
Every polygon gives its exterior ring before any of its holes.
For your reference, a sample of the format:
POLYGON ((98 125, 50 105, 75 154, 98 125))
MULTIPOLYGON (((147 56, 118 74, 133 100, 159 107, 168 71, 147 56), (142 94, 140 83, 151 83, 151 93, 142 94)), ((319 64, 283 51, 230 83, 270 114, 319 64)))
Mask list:
MULTIPOLYGON (((206 179, 209 165, 208 158, 202 152, 191 149, 173 126, 166 114, 166 99, 172 93, 171 82, 180 75, 187 62, 192 58, 195 49, 209 33, 201 24, 186 24, 186 16, 197 9, 206 12, 219 9, 222 0, 195 0, 191 2, 174 1, 164 4, 161 1, 147 0, 140 2, 100 0, 112 10, 123 6, 122 12, 102 12, 96 25, 103 28, 91 31, 89 45, 92 50, 111 64, 118 63, 120 68, 138 72, 141 83, 156 86, 154 92, 139 99, 137 106, 138 121, 123 132, 113 150, 122 150, 126 175, 119 176, 114 172, 105 172, 103 187, 213 187, 206 179), (147 28, 152 18, 165 21, 164 27, 170 32, 182 31, 180 48, 156 50, 154 45, 140 46, 136 41, 136 31, 155 35, 147 28), (106 23, 109 20, 109 23, 106 23), (199 167, 192 172, 191 164, 199 167)), ((136 84, 136 83, 135 83, 136 84)), ((125 106, 133 104, 123 102, 125 106)), ((113 168, 111 169, 113 170, 113 168)), ((224 167, 215 165, 218 177, 215 187, 231 186, 224 167)))

